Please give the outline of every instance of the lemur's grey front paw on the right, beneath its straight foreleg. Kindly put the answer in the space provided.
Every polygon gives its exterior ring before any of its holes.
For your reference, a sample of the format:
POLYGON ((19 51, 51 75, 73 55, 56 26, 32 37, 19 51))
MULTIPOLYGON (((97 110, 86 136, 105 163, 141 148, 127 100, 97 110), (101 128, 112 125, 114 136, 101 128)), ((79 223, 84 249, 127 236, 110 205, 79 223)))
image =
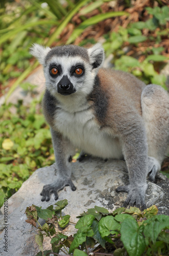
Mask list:
POLYGON ((145 186, 143 188, 131 188, 130 185, 120 186, 116 189, 117 192, 125 191, 128 193, 127 199, 124 201, 123 207, 136 206, 137 208, 146 209, 145 203, 145 186))

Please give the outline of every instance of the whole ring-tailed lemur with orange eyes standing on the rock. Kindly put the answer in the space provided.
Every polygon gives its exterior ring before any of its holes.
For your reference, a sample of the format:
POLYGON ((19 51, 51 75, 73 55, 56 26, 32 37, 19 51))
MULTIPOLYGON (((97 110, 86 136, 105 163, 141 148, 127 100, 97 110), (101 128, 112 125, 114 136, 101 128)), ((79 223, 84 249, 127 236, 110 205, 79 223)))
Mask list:
POLYGON ((146 177, 153 181, 169 144, 169 97, 160 86, 101 68, 104 50, 68 45, 31 53, 43 65, 43 112, 50 125, 58 179, 43 187, 42 201, 66 185, 72 190, 71 145, 101 158, 126 161, 129 185, 124 206, 145 204, 146 177))

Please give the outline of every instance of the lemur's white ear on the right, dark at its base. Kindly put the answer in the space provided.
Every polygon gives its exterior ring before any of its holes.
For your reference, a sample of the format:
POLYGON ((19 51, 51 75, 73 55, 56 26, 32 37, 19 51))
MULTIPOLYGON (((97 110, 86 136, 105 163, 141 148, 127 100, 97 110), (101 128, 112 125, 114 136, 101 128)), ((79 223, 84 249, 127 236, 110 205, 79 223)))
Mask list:
POLYGON ((104 49, 100 42, 88 49, 90 63, 94 69, 102 65, 104 61, 104 49))

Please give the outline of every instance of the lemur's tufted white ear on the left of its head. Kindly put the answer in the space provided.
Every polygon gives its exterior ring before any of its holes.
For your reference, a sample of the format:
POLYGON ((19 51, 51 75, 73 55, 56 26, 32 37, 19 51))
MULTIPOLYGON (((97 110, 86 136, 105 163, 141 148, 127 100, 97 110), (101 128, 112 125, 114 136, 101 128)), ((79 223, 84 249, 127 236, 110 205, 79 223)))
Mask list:
POLYGON ((40 46, 38 44, 33 44, 30 48, 30 53, 36 57, 42 65, 44 65, 45 57, 49 51, 49 47, 40 46))

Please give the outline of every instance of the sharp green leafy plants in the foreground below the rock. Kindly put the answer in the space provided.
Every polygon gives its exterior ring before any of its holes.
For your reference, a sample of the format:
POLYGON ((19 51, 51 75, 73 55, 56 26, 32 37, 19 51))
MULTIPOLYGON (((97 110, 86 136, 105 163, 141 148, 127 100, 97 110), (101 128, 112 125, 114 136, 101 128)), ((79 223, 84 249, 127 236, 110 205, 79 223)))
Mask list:
POLYGON ((55 208, 53 205, 47 209, 35 205, 26 208, 26 222, 39 229, 39 234, 35 236, 40 249, 37 255, 60 251, 73 256, 95 255, 98 252, 101 255, 113 252, 108 255, 115 256, 126 255, 126 252, 129 256, 168 253, 169 233, 166 229, 169 228, 169 216, 157 215, 155 205, 143 212, 136 207, 121 207, 112 213, 95 206, 77 217, 79 220, 75 228, 78 230, 73 237, 68 237, 55 231, 58 225, 64 228, 71 223, 69 215, 62 216, 62 209, 67 204, 67 200, 62 200, 55 203, 55 208), (43 226, 38 222, 39 218, 45 220, 43 226), (48 251, 43 251, 45 236, 51 239, 52 248, 48 251))

